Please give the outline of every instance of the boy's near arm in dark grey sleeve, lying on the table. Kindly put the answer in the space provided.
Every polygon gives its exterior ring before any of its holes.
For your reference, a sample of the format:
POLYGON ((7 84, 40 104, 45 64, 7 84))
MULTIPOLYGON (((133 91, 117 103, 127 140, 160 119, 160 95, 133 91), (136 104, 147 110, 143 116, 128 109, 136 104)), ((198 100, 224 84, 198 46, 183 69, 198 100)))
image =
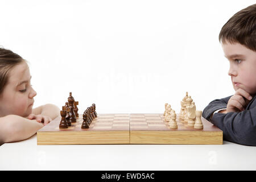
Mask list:
POLYGON ((223 131, 225 140, 256 146, 256 107, 241 112, 215 113, 211 122, 223 131))

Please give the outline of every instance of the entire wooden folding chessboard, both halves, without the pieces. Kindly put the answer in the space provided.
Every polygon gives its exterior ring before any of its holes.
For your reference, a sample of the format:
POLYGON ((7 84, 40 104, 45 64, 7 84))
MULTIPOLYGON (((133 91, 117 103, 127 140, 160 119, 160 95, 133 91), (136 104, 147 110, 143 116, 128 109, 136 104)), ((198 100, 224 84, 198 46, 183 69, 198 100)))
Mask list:
MULTIPOLYGON (((177 115, 177 118, 178 115, 177 115)), ((82 115, 68 129, 59 129, 61 117, 37 133, 40 144, 222 144, 222 131, 201 118, 197 130, 177 121, 170 129, 163 114, 98 114, 89 129, 81 129, 82 115)))

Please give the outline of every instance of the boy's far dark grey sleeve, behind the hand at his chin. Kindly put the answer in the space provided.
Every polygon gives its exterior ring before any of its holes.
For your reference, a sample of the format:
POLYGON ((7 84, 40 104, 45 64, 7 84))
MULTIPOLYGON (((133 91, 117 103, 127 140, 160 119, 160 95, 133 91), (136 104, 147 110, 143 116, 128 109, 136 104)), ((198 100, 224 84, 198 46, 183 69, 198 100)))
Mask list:
POLYGON ((212 115, 215 111, 226 108, 230 97, 232 96, 216 99, 210 102, 209 105, 206 106, 205 109, 203 110, 203 117, 208 121, 211 121, 212 115))

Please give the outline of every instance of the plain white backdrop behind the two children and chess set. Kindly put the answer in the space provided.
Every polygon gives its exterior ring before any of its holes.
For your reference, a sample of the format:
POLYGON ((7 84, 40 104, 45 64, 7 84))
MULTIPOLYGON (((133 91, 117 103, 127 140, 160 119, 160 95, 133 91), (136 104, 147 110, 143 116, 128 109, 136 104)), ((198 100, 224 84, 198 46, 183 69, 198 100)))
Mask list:
POLYGON ((29 62, 34 106, 179 113, 234 93, 218 34, 255 1, 0 1, 0 46, 29 62))

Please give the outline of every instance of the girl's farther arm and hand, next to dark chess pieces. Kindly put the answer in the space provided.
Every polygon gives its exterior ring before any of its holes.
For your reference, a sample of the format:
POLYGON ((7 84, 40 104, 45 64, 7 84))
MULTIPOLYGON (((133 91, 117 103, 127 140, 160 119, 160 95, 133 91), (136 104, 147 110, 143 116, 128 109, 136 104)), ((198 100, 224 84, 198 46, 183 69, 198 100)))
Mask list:
POLYGON ((53 104, 46 104, 39 107, 36 107, 32 110, 32 114, 35 115, 46 115, 47 117, 51 119, 55 119, 60 115, 60 109, 56 105, 53 104))

